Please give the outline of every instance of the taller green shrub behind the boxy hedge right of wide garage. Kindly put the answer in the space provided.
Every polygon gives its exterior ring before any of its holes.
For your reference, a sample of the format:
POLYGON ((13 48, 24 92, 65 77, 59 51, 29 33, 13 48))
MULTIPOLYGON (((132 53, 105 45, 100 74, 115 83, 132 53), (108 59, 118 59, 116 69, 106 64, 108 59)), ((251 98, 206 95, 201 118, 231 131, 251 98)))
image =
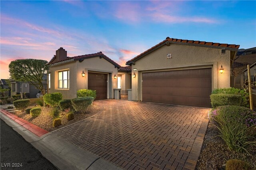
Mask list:
POLYGON ((214 89, 212 91, 212 94, 237 94, 242 97, 242 102, 240 106, 249 107, 248 105, 248 98, 249 94, 244 91, 237 88, 218 88, 214 89))

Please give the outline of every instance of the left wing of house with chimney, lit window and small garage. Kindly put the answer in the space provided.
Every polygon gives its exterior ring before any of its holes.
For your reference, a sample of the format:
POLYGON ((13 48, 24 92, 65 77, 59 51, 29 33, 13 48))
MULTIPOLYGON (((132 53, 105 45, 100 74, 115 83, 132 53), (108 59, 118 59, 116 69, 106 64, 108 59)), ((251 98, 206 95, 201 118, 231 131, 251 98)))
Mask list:
POLYGON ((92 89, 96 100, 114 98, 120 65, 102 52, 67 57, 67 51, 60 47, 48 64, 49 93, 60 92, 64 99, 71 99, 76 98, 77 90, 92 89))

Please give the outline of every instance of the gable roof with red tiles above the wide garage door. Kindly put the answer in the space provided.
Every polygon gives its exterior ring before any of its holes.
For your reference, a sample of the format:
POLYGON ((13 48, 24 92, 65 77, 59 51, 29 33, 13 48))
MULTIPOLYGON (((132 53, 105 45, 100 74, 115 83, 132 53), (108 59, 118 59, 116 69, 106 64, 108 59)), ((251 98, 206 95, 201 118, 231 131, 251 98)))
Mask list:
POLYGON ((166 37, 166 39, 159 44, 155 45, 154 47, 151 47, 150 49, 144 51, 143 53, 137 55, 133 59, 126 62, 126 65, 132 65, 134 61, 137 61, 141 59, 142 57, 148 55, 149 53, 152 53, 156 49, 164 46, 164 45, 170 45, 170 43, 175 44, 183 44, 183 45, 194 45, 194 46, 200 46, 200 47, 208 47, 208 48, 219 48, 219 49, 226 49, 230 51, 237 51, 240 45, 235 44, 221 44, 221 43, 213 43, 213 42, 206 42, 206 41, 194 41, 194 40, 187 40, 187 39, 176 39, 176 38, 170 38, 166 37))

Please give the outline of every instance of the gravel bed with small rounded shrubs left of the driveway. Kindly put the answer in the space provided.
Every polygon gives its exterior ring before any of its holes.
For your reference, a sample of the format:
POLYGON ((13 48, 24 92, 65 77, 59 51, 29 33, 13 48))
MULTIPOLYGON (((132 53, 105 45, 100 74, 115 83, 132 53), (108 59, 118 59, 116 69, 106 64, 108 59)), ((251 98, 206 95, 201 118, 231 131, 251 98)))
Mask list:
MULTIPOLYGON (((40 107, 40 106, 30 106, 28 108, 34 108, 34 107, 40 107)), ((83 113, 75 113, 74 114, 74 119, 71 121, 67 120, 66 114, 67 112, 62 111, 60 113, 60 119, 62 121, 62 125, 58 126, 58 127, 53 127, 52 126, 52 117, 49 115, 49 111, 51 108, 48 107, 40 107, 42 109, 41 114, 38 117, 31 117, 30 114, 26 114, 26 112, 22 112, 22 111, 15 111, 12 112, 13 114, 17 115, 18 117, 29 121, 30 123, 37 125, 38 127, 46 130, 46 131, 54 131, 56 129, 59 129, 61 127, 64 127, 66 125, 72 124, 76 121, 80 121, 82 119, 85 119, 86 117, 89 117, 91 115, 94 115, 95 113, 99 113, 103 110, 103 107, 98 105, 98 104, 92 104, 92 106, 89 106, 87 109, 87 113, 83 114, 83 113)))

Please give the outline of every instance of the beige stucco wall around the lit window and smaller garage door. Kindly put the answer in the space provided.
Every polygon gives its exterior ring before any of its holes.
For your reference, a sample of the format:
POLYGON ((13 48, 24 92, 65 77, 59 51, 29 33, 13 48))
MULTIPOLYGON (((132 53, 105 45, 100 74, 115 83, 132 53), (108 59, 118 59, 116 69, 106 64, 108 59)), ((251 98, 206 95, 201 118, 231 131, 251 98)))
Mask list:
MULTIPOLYGON (((50 66, 51 88, 49 89, 49 93, 61 92, 63 99, 76 98, 77 90, 88 88, 88 72, 108 74, 107 98, 114 98, 113 88, 117 88, 117 79, 114 79, 114 74, 117 75, 117 68, 115 68, 114 64, 104 58, 100 59, 100 57, 85 59, 81 63, 79 61, 71 61, 50 66), (58 71, 60 70, 69 70, 69 89, 58 89, 58 71), (82 76, 83 70, 85 72, 84 77, 82 76)), ((47 76, 47 82, 48 78, 47 76)))

